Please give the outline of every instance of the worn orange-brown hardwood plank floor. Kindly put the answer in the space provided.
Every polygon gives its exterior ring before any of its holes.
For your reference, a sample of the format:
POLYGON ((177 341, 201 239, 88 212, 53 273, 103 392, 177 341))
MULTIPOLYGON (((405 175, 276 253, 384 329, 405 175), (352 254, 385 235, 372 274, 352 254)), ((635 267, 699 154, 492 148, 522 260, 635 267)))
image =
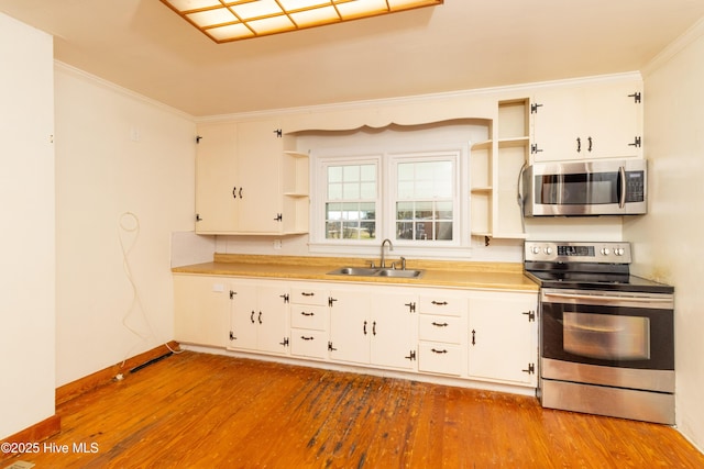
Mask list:
POLYGON ((704 468, 704 455, 663 425, 193 351, 57 413, 61 434, 38 453, 0 455, 0 468, 704 468))

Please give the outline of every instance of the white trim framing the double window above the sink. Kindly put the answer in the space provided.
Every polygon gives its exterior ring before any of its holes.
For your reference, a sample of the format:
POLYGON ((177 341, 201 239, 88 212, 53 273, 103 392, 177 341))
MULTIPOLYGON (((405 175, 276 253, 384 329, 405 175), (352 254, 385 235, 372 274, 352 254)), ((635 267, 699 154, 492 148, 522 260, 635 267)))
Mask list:
POLYGON ((470 234, 470 188, 469 158, 470 143, 428 144, 421 147, 403 148, 385 145, 381 148, 362 150, 359 148, 326 148, 310 152, 310 231, 309 252, 315 254, 371 257, 376 258, 381 253, 382 241, 388 237, 394 243, 392 257, 404 256, 409 259, 468 259, 472 254, 470 234), (394 165, 405 158, 430 159, 441 158, 440 155, 453 155, 455 164, 455 197, 453 202, 453 239, 452 241, 396 241, 395 236, 395 201, 396 181, 394 165), (403 155, 403 157, 402 157, 403 155), (324 203, 327 166, 336 164, 362 164, 375 161, 377 164, 377 208, 376 208, 376 238, 374 241, 345 239, 328 241, 324 238, 324 203), (391 214, 386 216, 386 214, 391 214))

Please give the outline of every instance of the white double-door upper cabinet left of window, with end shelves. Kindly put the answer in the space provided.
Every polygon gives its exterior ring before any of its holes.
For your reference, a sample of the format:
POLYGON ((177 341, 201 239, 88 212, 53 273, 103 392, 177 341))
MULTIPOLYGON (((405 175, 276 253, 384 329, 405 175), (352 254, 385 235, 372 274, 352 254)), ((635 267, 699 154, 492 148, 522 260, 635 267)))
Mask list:
POLYGON ((198 129, 196 232, 289 234, 308 230, 308 157, 276 121, 198 129))

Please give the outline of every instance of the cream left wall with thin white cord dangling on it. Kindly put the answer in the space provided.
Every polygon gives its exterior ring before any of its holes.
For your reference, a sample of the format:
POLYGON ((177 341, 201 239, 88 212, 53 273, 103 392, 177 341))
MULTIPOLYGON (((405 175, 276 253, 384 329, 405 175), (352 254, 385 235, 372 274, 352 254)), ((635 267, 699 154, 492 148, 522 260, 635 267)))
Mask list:
POLYGON ((195 124, 63 64, 55 76, 62 386, 173 338, 170 243, 194 225, 195 124))

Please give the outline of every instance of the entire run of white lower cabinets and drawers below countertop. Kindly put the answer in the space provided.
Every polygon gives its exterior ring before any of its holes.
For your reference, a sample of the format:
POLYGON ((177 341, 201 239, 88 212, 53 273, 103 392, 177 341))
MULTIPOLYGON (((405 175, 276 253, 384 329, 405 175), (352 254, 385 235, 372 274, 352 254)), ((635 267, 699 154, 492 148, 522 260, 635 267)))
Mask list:
POLYGON ((174 276, 177 340, 535 388, 537 292, 174 276))

